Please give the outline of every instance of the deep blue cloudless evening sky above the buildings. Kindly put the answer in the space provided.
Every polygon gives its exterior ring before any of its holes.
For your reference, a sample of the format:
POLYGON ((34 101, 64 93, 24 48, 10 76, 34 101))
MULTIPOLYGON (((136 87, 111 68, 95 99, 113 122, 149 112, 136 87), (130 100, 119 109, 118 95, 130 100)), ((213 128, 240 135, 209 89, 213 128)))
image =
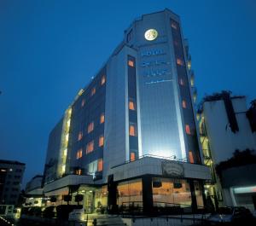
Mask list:
POLYGON ((256 98, 255 0, 0 1, 0 159, 43 173, 49 131, 141 14, 169 8, 189 38, 199 99, 256 98))

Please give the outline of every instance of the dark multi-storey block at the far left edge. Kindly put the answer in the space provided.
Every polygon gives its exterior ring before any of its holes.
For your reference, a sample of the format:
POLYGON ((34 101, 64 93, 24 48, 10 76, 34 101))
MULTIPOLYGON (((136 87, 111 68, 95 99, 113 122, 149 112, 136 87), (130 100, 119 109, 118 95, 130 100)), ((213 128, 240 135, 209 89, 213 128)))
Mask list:
POLYGON ((0 205, 16 205, 25 164, 0 159, 0 205))

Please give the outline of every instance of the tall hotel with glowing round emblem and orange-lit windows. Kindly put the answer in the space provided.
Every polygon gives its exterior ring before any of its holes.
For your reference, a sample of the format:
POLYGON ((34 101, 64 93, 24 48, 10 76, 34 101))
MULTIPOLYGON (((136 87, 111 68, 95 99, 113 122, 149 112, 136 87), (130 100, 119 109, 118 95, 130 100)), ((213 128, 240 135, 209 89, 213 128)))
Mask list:
POLYGON ((44 194, 98 206, 204 206, 194 73, 180 19, 144 14, 49 134, 44 194))

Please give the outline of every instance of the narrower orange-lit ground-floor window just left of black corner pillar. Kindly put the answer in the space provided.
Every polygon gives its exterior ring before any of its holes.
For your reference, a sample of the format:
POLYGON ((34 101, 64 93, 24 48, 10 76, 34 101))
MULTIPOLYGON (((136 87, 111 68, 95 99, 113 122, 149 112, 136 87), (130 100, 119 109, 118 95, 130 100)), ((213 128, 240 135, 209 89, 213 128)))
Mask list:
POLYGON ((134 206, 143 205, 143 183, 142 179, 119 183, 118 185, 118 205, 134 206))

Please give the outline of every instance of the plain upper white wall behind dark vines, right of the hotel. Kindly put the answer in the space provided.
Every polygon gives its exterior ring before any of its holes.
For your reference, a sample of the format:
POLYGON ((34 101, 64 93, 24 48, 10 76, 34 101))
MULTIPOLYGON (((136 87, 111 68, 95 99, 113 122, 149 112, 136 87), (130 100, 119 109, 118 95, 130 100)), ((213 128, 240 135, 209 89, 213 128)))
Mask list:
POLYGON ((230 130, 224 101, 207 101, 204 103, 204 117, 207 126, 207 136, 215 164, 230 159, 236 149, 246 148, 256 150, 256 139, 247 120, 246 98, 232 98, 239 131, 230 130))

